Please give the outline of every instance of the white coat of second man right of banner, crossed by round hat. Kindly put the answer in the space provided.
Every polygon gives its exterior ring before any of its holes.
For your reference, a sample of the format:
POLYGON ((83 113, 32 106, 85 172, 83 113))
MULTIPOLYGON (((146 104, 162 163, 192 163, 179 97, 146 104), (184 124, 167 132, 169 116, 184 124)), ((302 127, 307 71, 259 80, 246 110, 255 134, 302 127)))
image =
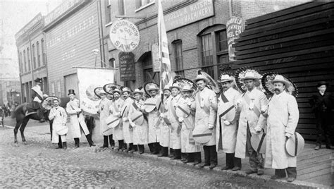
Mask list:
MULTIPOLYGON (((124 100, 121 98, 118 98, 114 100, 111 104, 109 104, 109 108, 111 109, 113 116, 120 116, 120 110, 123 104, 124 100)), ((118 124, 118 126, 113 128, 113 140, 124 140, 122 119, 120 119, 120 123, 118 124)))

